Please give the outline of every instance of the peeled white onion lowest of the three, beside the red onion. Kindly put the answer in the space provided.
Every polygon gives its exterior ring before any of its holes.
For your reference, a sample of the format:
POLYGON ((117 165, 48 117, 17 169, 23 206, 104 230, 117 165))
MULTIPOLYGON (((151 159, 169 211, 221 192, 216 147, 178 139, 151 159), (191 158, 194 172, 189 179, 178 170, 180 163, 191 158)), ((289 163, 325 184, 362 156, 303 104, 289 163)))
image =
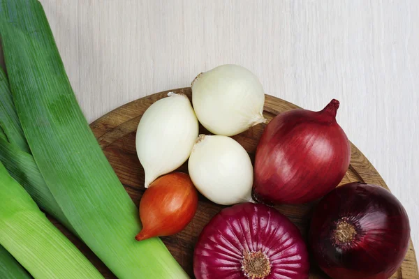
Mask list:
POLYGON ((247 151, 232 138, 200 135, 188 168, 193 184, 212 202, 230 205, 253 201, 253 166, 247 151))

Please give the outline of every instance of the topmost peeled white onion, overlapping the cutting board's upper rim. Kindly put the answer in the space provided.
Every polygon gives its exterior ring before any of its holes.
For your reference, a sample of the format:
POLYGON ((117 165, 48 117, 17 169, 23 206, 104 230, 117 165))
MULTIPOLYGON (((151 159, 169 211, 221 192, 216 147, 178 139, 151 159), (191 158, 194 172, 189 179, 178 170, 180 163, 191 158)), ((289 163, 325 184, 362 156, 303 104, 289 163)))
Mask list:
POLYGON ((247 68, 223 65, 193 80, 192 103, 199 121, 216 135, 237 135, 265 122, 265 92, 247 68))

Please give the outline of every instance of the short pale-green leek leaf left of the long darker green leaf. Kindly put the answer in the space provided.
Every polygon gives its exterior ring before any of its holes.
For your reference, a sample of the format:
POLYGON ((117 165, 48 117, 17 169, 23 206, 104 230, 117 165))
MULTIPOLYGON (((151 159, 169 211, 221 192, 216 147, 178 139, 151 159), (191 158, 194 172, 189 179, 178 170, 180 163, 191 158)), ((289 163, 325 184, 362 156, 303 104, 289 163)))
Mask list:
POLYGON ((103 278, 0 163, 0 244, 34 278, 103 278))

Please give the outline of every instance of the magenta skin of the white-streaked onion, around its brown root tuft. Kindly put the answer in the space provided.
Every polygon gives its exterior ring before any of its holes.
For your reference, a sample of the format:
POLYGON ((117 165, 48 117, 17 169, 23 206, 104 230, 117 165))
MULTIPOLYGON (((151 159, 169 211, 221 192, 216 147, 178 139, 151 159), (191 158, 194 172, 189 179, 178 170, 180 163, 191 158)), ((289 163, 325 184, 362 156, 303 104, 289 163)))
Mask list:
POLYGON ((223 209, 201 232, 193 254, 197 279, 247 279, 244 252, 262 251, 270 261, 267 279, 309 278, 309 257, 298 228, 263 204, 223 209))

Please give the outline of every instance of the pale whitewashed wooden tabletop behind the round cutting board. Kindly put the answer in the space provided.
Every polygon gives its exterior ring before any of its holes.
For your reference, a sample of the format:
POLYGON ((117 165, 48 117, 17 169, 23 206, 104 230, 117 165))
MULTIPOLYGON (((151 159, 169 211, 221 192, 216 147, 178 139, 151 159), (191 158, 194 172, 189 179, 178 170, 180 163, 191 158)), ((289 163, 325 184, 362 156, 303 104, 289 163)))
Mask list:
POLYGON ((419 251, 419 1, 41 0, 84 114, 223 63, 338 121, 409 212, 419 251))

